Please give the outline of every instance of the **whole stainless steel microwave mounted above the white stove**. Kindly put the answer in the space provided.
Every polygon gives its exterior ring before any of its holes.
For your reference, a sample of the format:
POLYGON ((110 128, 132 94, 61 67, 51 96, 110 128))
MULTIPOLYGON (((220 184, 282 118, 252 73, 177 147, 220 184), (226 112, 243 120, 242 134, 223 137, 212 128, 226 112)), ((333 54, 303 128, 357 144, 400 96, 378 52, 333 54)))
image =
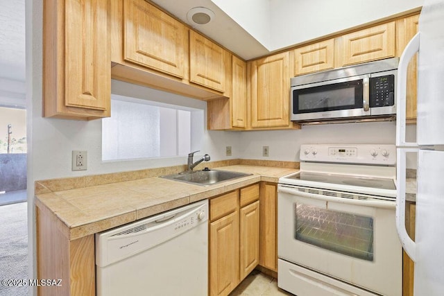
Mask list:
POLYGON ((291 121, 394 119, 399 58, 291 78, 291 121))

